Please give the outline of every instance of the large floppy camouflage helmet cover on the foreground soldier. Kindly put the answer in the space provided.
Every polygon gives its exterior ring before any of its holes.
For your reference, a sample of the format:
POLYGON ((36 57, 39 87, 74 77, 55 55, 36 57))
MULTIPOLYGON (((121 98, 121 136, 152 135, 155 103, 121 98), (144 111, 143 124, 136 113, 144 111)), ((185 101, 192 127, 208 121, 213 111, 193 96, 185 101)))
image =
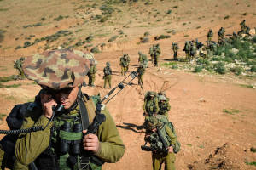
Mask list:
POLYGON ((26 58, 22 68, 28 79, 57 90, 82 84, 90 60, 73 50, 58 49, 26 58))

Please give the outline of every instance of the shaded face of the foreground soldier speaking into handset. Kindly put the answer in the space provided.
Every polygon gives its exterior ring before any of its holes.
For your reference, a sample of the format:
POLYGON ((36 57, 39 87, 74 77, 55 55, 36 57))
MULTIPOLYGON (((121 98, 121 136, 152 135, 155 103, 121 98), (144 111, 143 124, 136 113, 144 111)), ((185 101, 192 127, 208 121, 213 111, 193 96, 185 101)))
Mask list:
POLYGON ((65 109, 70 108, 73 103, 76 101, 79 94, 79 88, 69 88, 67 90, 61 90, 58 93, 55 93, 55 99, 57 103, 60 103, 64 106, 65 109))

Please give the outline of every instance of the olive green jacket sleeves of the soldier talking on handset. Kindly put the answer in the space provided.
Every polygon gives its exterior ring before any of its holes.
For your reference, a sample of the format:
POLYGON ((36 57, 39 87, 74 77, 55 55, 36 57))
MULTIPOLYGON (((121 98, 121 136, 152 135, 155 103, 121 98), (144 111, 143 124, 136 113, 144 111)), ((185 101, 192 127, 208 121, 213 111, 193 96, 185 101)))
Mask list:
MULTIPOLYGON (((90 110, 88 112, 90 114, 90 110)), ((102 114, 106 116, 106 121, 102 123, 96 133, 100 141, 100 149, 97 151, 96 156, 103 161, 113 163, 119 161, 123 156, 125 146, 119 137, 113 118, 106 108, 102 110, 102 114)), ((26 120, 21 128, 32 127, 33 125, 42 125, 44 127, 48 122, 49 119, 41 115, 41 113, 28 111, 26 120)), ((15 169, 28 169, 28 164, 34 161, 49 146, 52 124, 50 122, 44 131, 20 134, 15 144, 15 156, 17 158, 15 169)))

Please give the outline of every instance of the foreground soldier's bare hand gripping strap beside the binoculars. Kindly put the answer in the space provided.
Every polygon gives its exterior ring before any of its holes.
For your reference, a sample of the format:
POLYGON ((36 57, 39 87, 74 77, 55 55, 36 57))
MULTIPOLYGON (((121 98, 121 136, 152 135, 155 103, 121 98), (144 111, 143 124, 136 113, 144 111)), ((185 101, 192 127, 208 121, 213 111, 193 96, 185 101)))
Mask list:
MULTIPOLYGON (((87 130, 83 130, 85 134, 87 130)), ((100 142, 95 134, 86 134, 83 139, 84 150, 90 150, 96 153, 100 149, 100 142)))

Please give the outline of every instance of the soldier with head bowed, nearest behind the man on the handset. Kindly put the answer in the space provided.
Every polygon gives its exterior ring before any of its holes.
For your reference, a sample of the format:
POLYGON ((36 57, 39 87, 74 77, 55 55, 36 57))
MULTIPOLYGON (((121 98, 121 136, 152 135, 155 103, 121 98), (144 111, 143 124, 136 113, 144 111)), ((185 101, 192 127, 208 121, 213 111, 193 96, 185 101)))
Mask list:
POLYGON ((163 115, 151 116, 145 122, 147 131, 144 139, 146 144, 149 142, 149 148, 152 150, 154 170, 160 170, 163 163, 166 170, 175 169, 174 154, 180 150, 180 145, 177 142, 177 135, 174 133, 174 129, 168 126, 169 123, 166 120, 166 116, 163 115))

